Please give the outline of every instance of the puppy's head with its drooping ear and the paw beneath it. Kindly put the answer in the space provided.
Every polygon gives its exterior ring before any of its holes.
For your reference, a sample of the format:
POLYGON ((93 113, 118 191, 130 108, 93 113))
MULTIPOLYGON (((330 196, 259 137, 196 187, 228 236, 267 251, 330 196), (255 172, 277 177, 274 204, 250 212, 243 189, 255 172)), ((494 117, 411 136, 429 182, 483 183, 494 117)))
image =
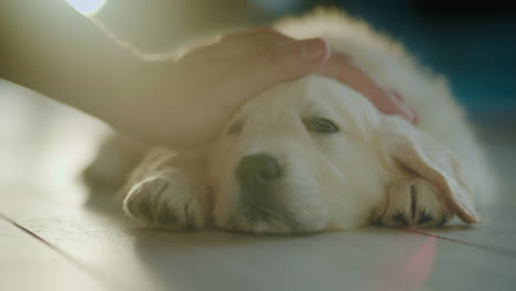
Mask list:
POLYGON ((240 109, 213 148, 208 183, 217 227, 288 234, 479 222, 463 172, 430 136, 309 76, 240 109))

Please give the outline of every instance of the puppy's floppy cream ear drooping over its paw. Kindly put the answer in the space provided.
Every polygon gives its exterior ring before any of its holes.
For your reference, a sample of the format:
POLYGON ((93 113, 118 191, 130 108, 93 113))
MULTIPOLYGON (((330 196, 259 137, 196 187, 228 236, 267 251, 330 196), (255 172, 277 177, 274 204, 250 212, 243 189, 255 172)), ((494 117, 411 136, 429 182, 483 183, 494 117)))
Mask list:
POLYGON ((444 144, 397 117, 384 117, 381 142, 387 162, 430 182, 464 223, 480 223, 460 162, 444 144))

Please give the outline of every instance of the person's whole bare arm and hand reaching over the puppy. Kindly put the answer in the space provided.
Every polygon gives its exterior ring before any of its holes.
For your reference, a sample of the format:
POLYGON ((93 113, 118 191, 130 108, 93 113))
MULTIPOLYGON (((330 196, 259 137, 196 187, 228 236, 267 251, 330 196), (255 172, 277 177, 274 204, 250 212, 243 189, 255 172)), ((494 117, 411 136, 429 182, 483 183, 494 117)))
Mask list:
POLYGON ((2 77, 146 142, 202 143, 260 90, 308 73, 358 84, 380 110, 410 119, 353 58, 331 53, 320 39, 294 41, 255 29, 157 61, 131 54, 64 1, 2 6, 2 77))

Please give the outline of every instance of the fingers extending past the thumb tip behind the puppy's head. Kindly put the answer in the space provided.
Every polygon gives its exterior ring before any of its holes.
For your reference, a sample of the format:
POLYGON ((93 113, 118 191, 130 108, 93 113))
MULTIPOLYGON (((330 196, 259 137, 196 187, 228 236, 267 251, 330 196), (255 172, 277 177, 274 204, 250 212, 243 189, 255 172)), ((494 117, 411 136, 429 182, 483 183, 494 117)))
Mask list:
POLYGON ((348 55, 333 53, 319 73, 338 79, 362 93, 384 114, 398 115, 410 122, 417 122, 416 114, 402 104, 399 93, 384 88, 348 55))

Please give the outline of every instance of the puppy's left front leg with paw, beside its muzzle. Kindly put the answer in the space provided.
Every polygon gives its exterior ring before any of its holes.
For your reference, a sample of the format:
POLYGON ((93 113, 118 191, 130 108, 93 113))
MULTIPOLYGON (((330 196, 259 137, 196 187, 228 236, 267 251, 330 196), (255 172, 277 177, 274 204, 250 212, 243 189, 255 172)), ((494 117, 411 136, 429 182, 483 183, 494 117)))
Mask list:
POLYGON ((209 197, 202 165, 165 149, 149 152, 122 188, 125 213, 148 227, 203 228, 209 197))

